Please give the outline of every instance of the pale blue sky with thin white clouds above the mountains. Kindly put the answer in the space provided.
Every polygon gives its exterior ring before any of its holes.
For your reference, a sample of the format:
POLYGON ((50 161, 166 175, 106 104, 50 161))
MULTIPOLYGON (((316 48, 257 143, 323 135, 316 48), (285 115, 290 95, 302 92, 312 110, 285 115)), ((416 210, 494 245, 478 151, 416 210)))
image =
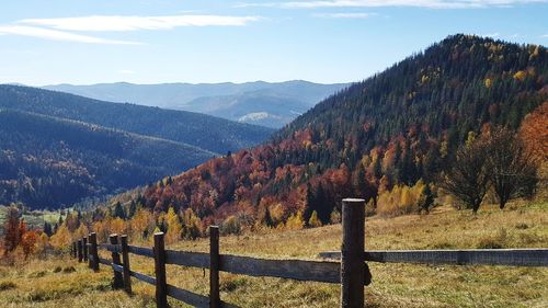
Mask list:
POLYGON ((0 83, 352 82, 456 34, 548 45, 548 0, 18 0, 0 83))

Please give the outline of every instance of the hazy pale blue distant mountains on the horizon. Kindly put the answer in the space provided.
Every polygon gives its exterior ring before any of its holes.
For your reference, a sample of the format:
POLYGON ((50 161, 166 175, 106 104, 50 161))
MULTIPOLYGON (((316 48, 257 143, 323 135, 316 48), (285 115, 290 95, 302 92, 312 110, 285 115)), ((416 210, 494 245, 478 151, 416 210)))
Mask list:
POLYGON ((319 84, 294 80, 269 83, 163 83, 126 82, 92 85, 57 84, 56 90, 113 102, 199 112, 242 123, 279 128, 347 83, 319 84))

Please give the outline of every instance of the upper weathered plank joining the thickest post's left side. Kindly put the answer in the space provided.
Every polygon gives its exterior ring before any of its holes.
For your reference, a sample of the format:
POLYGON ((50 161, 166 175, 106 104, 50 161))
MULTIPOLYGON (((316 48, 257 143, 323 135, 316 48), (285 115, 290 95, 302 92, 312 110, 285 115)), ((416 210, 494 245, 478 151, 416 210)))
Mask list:
POLYGON ((297 281, 340 283, 339 262, 304 260, 267 260, 220 255, 220 271, 249 276, 270 276, 297 281))

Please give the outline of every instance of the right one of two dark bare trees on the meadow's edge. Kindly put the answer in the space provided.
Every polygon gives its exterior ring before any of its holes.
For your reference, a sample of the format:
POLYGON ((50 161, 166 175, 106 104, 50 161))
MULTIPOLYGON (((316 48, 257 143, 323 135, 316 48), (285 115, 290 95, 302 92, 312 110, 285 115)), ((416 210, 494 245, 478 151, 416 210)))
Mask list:
POLYGON ((516 196, 532 195, 537 180, 537 166, 515 133, 495 127, 483 137, 488 147, 489 179, 500 208, 516 196))

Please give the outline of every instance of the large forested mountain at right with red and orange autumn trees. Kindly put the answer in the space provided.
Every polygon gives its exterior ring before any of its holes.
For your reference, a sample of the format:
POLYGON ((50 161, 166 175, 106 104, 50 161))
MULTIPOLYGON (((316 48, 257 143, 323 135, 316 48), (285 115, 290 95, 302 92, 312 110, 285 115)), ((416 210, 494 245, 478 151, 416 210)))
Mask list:
POLYGON ((138 202, 244 226, 298 213, 308 221, 313 212, 328 223, 347 196, 373 199, 368 210, 399 206, 467 139, 490 125, 516 129, 544 102, 546 47, 454 35, 326 99, 269 142, 145 189, 138 202))

